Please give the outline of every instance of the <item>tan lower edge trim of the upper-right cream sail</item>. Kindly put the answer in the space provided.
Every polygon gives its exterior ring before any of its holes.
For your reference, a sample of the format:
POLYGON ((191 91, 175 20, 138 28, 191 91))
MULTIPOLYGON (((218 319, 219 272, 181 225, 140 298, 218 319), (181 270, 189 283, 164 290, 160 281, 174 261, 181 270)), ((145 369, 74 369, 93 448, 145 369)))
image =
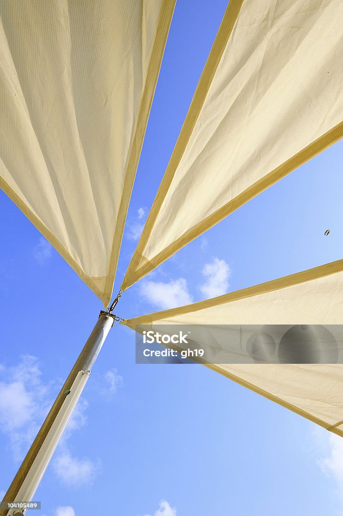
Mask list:
MULTIPOLYGON (((198 236, 200 236, 202 233, 207 231, 208 229, 212 228, 214 225, 216 225, 218 222, 223 220, 225 217, 236 211, 240 206, 247 203, 259 193, 262 193, 264 190, 272 186, 277 181, 280 181, 282 178, 284 178, 286 175, 288 175, 293 170, 299 168, 304 163, 308 162, 310 159, 315 157, 316 155, 323 152, 325 149, 339 141, 341 138, 343 138, 343 122, 340 122, 339 124, 335 125, 330 131, 325 133, 324 135, 320 136, 317 140, 310 143, 307 147, 299 151, 297 154, 292 156, 290 159, 288 159, 286 162, 284 162, 279 167, 275 168, 271 172, 269 172, 267 175, 265 175, 260 180, 256 181, 253 185, 251 185, 249 188, 244 190, 240 195, 229 201, 228 203, 224 204, 221 208, 219 208, 215 213, 209 215, 204 220, 202 220, 199 224, 194 226, 192 229, 184 233, 181 237, 177 238, 177 240, 174 240, 172 244, 170 244, 168 247, 166 247, 163 251, 158 253, 154 258, 150 261, 148 261, 142 254, 139 254, 139 249, 144 250, 144 247, 148 241, 149 235, 145 236, 144 231, 142 233, 142 238, 144 238, 144 241, 142 240, 142 244, 137 246, 137 249, 135 251, 136 259, 135 264, 138 264, 139 262, 144 262, 144 265, 141 266, 139 269, 135 270, 133 273, 130 273, 130 270, 134 268, 134 263, 132 262, 129 265, 129 268, 127 269, 124 281, 122 283, 122 289, 125 290, 129 286, 136 283, 138 280, 146 276, 149 272, 154 270, 158 265, 160 265, 162 262, 165 262, 170 256, 175 254, 177 251, 182 249, 186 244, 188 244, 190 241, 194 240, 198 236)), ((168 169, 166 171, 166 174, 168 173, 168 169)), ((171 178, 172 179, 172 178, 171 178)), ((159 192, 158 192, 159 193, 159 192)), ((157 195, 158 195, 157 193, 157 195)), ((157 202, 157 196, 155 201, 157 202)), ((161 201, 162 202, 162 201, 161 201)), ((154 208, 154 204, 153 204, 154 208)), ((152 209, 153 209, 152 208, 152 209)), ((148 223, 148 220, 146 221, 148 223)))

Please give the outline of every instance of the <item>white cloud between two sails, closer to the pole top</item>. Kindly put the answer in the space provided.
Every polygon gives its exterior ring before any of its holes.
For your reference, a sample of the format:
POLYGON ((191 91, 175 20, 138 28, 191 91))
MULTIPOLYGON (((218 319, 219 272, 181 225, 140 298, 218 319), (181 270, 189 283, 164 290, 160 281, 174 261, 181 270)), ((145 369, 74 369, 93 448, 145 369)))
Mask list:
POLYGON ((146 301, 161 310, 193 302, 185 278, 170 280, 169 283, 144 281, 140 287, 140 294, 146 301))

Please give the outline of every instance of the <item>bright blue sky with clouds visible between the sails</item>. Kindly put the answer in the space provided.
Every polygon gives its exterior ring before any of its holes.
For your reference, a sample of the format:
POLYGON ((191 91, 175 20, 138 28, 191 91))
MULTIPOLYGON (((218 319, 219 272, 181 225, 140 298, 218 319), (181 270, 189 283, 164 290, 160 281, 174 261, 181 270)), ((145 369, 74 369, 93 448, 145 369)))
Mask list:
MULTIPOLYGON (((225 7, 223 0, 178 0, 115 292, 225 7)), ((194 240, 130 287, 118 314, 198 301, 218 288, 230 292, 341 259, 342 150, 335 144, 194 240)), ((0 217, 5 491, 102 306, 3 193, 0 217)), ((37 492, 42 510, 34 514, 341 514, 342 443, 205 367, 136 365, 134 332, 116 325, 37 492)))

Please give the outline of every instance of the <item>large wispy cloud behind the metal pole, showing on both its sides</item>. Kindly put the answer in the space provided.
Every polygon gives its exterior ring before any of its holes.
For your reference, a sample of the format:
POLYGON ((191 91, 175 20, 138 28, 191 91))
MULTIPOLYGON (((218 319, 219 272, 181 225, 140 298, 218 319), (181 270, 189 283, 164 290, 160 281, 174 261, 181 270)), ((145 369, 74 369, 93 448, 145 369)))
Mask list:
MULTIPOLYGON (((0 431, 8 437, 15 461, 24 458, 36 437, 52 405, 56 383, 42 381, 38 359, 30 355, 21 357, 17 366, 0 369, 0 431)), ((58 479, 69 486, 91 483, 100 470, 99 460, 74 457, 68 446, 72 432, 87 424, 87 407, 88 402, 80 398, 52 461, 58 479)))

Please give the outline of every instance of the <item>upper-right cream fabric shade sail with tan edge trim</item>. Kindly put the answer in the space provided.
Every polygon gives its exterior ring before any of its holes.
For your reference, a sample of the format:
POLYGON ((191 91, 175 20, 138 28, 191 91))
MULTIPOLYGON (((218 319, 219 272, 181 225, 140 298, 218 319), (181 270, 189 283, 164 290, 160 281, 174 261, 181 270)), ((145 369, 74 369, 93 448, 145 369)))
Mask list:
POLYGON ((343 136, 341 0, 231 0, 122 288, 343 136))

